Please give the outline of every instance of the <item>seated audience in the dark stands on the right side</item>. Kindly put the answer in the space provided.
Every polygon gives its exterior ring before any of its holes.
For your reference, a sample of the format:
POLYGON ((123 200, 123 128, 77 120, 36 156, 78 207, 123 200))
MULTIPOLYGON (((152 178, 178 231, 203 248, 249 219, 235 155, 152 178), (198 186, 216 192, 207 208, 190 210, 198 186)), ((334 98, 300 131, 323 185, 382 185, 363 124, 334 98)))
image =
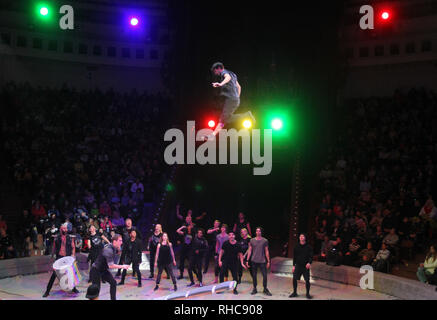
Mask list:
POLYGON ((351 101, 320 171, 315 252, 331 265, 408 265, 437 236, 437 95, 351 101), (344 126, 343 126, 344 125, 344 126))

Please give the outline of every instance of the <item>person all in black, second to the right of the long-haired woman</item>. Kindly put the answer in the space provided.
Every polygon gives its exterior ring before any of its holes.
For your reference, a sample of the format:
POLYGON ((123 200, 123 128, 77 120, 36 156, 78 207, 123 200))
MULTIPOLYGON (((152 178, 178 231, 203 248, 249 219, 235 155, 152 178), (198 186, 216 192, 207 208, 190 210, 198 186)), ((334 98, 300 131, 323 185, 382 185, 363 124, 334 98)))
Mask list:
POLYGON ((188 266, 188 276, 190 277, 189 287, 194 285, 193 271, 196 274, 199 286, 203 286, 202 283, 202 262, 208 252, 208 241, 203 237, 203 229, 198 229, 197 234, 194 237, 191 248, 190 258, 188 266))

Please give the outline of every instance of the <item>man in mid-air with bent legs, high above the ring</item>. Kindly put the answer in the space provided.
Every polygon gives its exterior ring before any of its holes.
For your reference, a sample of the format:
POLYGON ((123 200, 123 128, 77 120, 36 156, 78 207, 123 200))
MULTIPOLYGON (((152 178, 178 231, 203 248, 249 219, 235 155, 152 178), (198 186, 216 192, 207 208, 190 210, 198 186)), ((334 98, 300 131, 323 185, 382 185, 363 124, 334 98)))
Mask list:
POLYGON ((223 63, 216 62, 211 67, 211 72, 214 76, 219 77, 220 82, 214 82, 214 88, 220 88, 220 97, 223 99, 223 110, 220 116, 219 123, 212 135, 208 135, 205 139, 213 140, 221 129, 230 122, 251 118, 255 122, 255 117, 252 112, 235 113, 240 106, 241 86, 238 83, 237 75, 232 71, 226 70, 223 63))

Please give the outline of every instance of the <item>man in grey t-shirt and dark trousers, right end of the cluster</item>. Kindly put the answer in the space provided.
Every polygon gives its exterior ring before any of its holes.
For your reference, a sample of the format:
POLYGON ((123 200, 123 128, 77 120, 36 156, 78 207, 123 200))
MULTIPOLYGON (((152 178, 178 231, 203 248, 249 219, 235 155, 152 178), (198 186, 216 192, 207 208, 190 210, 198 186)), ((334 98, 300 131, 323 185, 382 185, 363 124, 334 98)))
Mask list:
POLYGON ((271 296, 269 289, 267 289, 267 269, 270 267, 270 254, 269 254, 269 241, 262 236, 262 228, 258 227, 255 230, 256 237, 252 238, 249 242, 249 250, 247 252, 247 263, 249 267, 249 261, 251 262, 250 268, 252 269, 253 290, 251 294, 256 294, 257 287, 257 273, 258 268, 263 275, 263 293, 267 296, 271 296))

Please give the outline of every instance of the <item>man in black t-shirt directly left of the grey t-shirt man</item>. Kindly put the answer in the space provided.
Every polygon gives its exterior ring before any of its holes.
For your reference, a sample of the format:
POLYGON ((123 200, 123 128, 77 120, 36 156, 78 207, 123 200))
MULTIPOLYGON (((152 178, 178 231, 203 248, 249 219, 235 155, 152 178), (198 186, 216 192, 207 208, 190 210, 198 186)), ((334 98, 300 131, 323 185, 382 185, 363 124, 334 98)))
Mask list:
POLYGON ((235 240, 234 232, 229 232, 228 236, 229 240, 223 243, 218 257, 218 264, 220 266, 220 283, 224 281, 225 273, 230 270, 233 280, 237 282, 237 285, 234 288, 234 294, 238 294, 238 266, 241 265, 244 268, 246 268, 246 266, 243 264, 241 247, 235 240))

